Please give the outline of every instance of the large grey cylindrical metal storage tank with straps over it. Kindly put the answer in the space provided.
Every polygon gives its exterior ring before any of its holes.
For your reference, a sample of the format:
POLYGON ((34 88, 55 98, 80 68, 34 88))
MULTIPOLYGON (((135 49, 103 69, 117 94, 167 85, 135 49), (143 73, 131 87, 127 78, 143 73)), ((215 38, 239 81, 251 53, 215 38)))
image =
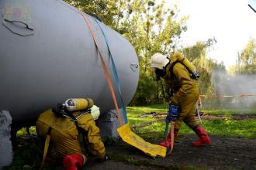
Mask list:
MULTIPOLYGON (((14 124, 34 122, 40 112, 68 98, 92 98, 101 113, 115 109, 99 53, 78 9, 60 0, 2 0, 0 12, 0 110, 8 110, 14 124)), ((86 16, 121 107, 106 40, 95 18, 86 16)), ((123 36, 102 26, 124 103, 129 104, 139 79, 137 54, 123 36)))

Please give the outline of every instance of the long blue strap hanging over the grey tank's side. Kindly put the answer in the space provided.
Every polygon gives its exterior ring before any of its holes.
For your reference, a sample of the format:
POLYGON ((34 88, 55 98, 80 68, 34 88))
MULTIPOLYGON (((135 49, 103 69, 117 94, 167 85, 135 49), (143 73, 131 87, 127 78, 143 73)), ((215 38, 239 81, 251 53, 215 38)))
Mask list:
POLYGON ((117 70, 116 70, 116 64, 114 62, 111 50, 109 48, 109 39, 106 36, 106 34, 104 32, 104 29, 101 26, 102 23, 99 22, 97 19, 95 19, 95 21, 97 22, 99 28, 101 29, 101 31, 103 33, 103 36, 104 36, 104 38, 106 40, 106 45, 107 45, 107 47, 109 49, 109 56, 110 56, 110 59, 111 59, 111 62, 112 62, 112 71, 113 71, 113 74, 114 74, 114 77, 115 77, 115 80, 116 80, 116 86, 118 87, 119 95, 120 95, 120 98, 121 98, 121 104, 122 104, 122 108, 123 108, 122 109, 123 119, 124 119, 125 124, 127 124, 128 121, 127 121, 126 107, 125 107, 125 104, 124 104, 124 101, 123 101, 123 96, 122 96, 122 92, 121 92, 121 85, 120 85, 119 77, 118 77, 117 70))

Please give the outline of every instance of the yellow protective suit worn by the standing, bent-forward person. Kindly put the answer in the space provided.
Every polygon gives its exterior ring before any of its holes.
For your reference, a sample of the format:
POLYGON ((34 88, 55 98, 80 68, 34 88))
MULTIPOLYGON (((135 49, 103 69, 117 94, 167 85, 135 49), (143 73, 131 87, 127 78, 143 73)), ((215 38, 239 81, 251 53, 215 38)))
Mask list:
POLYGON ((198 83, 190 77, 189 71, 182 63, 174 65, 173 75, 171 75, 170 67, 171 63, 168 64, 166 75, 163 78, 166 90, 171 88, 175 91, 170 103, 178 105, 180 108, 178 119, 175 121, 175 130, 181 128, 182 121, 193 129, 199 125, 199 122, 195 119, 195 103, 199 99, 198 83))

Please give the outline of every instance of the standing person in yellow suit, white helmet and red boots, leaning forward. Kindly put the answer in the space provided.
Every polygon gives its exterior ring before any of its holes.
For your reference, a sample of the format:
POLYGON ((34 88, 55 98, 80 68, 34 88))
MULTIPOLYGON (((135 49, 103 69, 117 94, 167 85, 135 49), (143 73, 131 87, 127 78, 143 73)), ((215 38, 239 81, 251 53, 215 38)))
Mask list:
MULTIPOLYGON (((178 106, 179 113, 175 121, 174 136, 177 137, 182 122, 195 131, 199 141, 192 142, 192 146, 210 144, 211 140, 202 125, 195 119, 195 103, 199 99, 199 87, 195 66, 182 53, 174 53, 170 58, 155 53, 150 58, 150 67, 155 69, 156 76, 164 79, 165 90, 171 96, 169 104, 178 106), (173 93, 170 93, 172 91, 173 93)), ((167 147, 171 142, 171 134, 160 145, 167 147)))

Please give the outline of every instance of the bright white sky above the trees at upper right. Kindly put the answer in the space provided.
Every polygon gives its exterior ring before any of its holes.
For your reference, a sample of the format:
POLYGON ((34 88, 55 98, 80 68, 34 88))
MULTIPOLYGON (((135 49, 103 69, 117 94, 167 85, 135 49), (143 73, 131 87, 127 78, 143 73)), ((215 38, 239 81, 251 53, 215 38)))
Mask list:
MULTIPOLYGON (((237 53, 249 39, 256 39, 256 13, 248 3, 256 0, 166 0, 167 7, 178 3, 179 16, 189 15, 182 46, 216 38, 207 56, 223 61, 228 68, 236 63, 237 53)), ((256 2, 255 2, 256 4, 256 2)))

